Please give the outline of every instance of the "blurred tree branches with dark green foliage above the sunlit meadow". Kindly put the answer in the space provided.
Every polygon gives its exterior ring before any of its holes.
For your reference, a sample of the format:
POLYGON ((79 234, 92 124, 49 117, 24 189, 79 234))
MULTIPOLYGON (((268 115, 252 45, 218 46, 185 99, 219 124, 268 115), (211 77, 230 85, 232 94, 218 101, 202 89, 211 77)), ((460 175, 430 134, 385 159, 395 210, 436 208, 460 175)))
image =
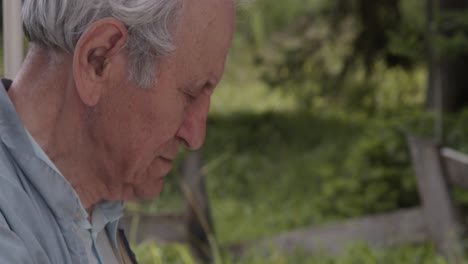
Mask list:
MULTIPOLYGON (((382 75, 418 76, 412 71, 425 60, 423 12, 422 1, 257 0, 240 9, 246 22, 239 35, 263 80, 296 95, 301 107, 374 113, 382 75)), ((418 90, 412 87, 392 90, 403 98, 418 90)))

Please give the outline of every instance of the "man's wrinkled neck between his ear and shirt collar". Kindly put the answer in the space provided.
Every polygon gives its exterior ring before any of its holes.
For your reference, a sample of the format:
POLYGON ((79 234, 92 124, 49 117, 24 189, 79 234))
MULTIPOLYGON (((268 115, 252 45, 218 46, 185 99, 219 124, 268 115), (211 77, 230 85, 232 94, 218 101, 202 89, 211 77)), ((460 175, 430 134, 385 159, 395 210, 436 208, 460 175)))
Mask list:
POLYGON ((67 63, 52 56, 57 55, 33 48, 8 95, 24 126, 89 211, 102 199, 105 184, 96 177, 92 142, 81 120, 84 107, 72 94, 76 92, 72 69, 61 67, 67 63))

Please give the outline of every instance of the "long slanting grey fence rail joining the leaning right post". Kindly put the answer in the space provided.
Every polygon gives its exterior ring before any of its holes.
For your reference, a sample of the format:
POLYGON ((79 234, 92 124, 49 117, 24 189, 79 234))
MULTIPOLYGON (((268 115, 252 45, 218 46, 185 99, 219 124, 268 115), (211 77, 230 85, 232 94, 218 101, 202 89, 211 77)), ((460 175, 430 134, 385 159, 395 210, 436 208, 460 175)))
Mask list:
POLYGON ((236 243, 230 245, 228 249, 234 254, 242 254, 250 248, 262 250, 273 246, 286 252, 301 249, 311 254, 319 252, 335 254, 352 242, 366 242, 374 247, 386 247, 420 243, 428 239, 421 208, 412 208, 298 229, 272 237, 236 243))

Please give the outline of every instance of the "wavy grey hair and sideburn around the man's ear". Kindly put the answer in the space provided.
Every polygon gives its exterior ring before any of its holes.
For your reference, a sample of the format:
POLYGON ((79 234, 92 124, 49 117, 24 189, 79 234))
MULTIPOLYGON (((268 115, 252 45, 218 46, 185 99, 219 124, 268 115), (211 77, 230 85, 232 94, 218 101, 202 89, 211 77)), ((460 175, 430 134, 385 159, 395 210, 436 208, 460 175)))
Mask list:
POLYGON ((156 81, 157 59, 174 49, 170 32, 181 0, 23 0, 29 41, 73 53, 95 21, 114 17, 126 25, 129 78, 143 87, 156 81))

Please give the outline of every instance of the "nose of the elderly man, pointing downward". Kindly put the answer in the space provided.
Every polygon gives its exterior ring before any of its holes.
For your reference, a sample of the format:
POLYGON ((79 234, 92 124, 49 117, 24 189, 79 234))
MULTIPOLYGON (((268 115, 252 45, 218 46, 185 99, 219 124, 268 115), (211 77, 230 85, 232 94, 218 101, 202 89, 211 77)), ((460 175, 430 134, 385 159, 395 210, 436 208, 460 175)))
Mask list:
POLYGON ((209 112, 209 100, 196 111, 187 113, 177 136, 183 140, 185 146, 190 150, 198 150, 205 141, 206 120, 209 112))

